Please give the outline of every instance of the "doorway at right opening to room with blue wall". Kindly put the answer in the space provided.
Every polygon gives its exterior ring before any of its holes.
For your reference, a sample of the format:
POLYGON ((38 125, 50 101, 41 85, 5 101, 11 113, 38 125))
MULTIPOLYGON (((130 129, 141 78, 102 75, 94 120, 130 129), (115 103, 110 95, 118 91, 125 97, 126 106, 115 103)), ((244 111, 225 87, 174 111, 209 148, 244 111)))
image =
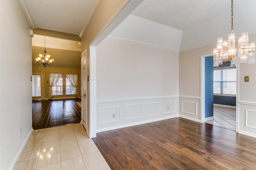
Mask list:
POLYGON ((226 64, 214 69, 212 55, 201 56, 201 122, 236 131, 236 68, 226 64))

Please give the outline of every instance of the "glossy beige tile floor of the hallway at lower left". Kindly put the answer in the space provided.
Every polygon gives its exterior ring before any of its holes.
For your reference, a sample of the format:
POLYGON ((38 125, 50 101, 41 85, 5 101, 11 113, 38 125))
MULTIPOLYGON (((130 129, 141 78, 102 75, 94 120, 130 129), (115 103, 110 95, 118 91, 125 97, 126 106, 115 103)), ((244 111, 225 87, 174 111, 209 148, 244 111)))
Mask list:
POLYGON ((110 170, 82 124, 32 131, 13 170, 110 170))

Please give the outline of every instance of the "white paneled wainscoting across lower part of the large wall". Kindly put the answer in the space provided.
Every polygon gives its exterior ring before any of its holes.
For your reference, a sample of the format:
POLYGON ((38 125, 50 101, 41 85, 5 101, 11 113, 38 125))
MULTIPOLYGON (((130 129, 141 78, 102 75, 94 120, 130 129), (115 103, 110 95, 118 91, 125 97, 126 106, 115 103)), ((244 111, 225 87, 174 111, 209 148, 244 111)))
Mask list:
POLYGON ((97 101, 96 132, 178 117, 178 102, 178 96, 97 101))

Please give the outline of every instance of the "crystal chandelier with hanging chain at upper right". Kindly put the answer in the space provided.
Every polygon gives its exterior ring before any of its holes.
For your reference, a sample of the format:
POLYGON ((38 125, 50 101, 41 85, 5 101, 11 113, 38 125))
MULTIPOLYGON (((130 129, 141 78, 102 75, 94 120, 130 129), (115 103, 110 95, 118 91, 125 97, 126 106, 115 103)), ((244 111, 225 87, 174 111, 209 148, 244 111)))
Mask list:
POLYGON ((216 48, 213 49, 214 67, 222 64, 223 59, 230 59, 230 66, 236 66, 237 53, 240 63, 255 64, 255 43, 249 43, 248 33, 242 33, 236 45, 233 32, 233 0, 231 0, 231 33, 228 35, 228 40, 222 37, 217 39, 216 48))

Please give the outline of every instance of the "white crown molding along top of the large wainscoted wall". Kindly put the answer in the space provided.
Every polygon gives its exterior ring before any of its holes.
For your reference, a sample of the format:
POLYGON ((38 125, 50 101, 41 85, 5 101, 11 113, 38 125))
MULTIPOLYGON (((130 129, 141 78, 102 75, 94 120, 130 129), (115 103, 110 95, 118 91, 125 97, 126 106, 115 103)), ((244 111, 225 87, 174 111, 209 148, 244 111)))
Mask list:
POLYGON ((158 45, 152 45, 152 44, 148 44, 148 43, 132 41, 132 40, 129 40, 129 39, 122 39, 122 38, 118 38, 118 37, 107 36, 105 39, 109 40, 109 41, 116 41, 116 42, 120 42, 120 43, 127 43, 127 44, 142 46, 142 47, 148 47, 148 48, 153 48, 153 49, 171 51, 171 52, 174 52, 174 53, 179 53, 180 52, 178 49, 171 49, 171 48, 168 48, 168 47, 161 47, 161 46, 158 46, 158 45))

